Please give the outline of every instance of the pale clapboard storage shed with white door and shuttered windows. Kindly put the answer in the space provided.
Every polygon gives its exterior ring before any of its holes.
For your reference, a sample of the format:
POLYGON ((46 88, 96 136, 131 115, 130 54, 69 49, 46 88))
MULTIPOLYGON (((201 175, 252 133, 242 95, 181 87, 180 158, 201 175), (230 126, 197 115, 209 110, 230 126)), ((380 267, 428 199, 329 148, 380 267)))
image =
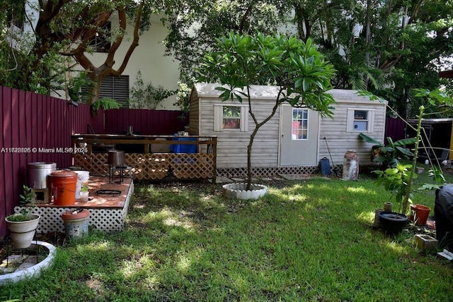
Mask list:
MULTIPOLYGON (((196 83, 190 95, 190 134, 217 135, 217 171, 245 169, 247 145, 255 124, 246 99, 222 102, 219 84, 196 83)), ((251 106, 258 121, 273 109, 278 87, 252 87, 251 106)), ((334 117, 321 118, 316 111, 281 104, 258 131, 252 150, 254 174, 310 173, 327 157, 331 165, 343 164, 348 150, 357 150, 360 165, 373 164, 372 145, 358 137, 366 133, 383 141, 386 106, 357 95, 354 90, 331 90, 337 104, 334 117), (330 150, 330 152, 329 152, 330 150), (330 154, 329 154, 330 153, 330 154)), ((221 173, 222 174, 222 173, 221 173)))

